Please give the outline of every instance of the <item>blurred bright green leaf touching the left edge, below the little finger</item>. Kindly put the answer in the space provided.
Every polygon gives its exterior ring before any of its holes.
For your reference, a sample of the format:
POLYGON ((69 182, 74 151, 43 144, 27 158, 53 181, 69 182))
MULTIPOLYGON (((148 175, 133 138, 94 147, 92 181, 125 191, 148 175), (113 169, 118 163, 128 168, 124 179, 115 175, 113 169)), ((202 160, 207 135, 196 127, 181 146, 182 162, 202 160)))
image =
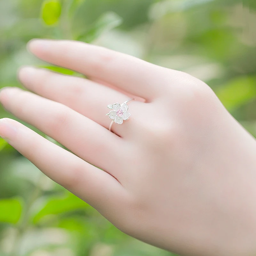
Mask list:
POLYGON ((17 223, 20 220, 22 208, 19 198, 0 200, 0 222, 17 223))

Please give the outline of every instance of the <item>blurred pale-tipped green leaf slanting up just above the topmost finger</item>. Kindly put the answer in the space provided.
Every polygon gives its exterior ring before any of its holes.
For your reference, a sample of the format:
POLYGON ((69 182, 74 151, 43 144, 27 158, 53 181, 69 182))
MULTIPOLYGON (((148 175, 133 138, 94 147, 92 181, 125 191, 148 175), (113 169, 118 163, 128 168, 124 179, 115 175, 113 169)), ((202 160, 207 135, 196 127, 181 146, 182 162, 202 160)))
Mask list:
POLYGON ((82 36, 79 36, 78 40, 91 43, 102 33, 118 27, 122 22, 122 18, 115 12, 106 12, 94 23, 92 28, 86 31, 82 36))

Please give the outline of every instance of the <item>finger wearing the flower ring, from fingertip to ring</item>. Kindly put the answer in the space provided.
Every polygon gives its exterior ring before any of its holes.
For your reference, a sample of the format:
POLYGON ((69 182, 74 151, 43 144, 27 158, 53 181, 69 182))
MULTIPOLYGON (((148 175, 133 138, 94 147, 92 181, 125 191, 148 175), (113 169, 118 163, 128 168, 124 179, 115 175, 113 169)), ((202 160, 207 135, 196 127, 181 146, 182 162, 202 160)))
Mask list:
MULTIPOLYGON (((64 76, 46 69, 24 67, 19 79, 26 88, 47 99, 60 102, 108 129, 111 120, 106 116, 107 105, 129 98, 102 84, 90 80, 64 76)), ((121 128, 121 127, 119 127, 121 128)), ((119 136, 122 129, 117 131, 119 136)))

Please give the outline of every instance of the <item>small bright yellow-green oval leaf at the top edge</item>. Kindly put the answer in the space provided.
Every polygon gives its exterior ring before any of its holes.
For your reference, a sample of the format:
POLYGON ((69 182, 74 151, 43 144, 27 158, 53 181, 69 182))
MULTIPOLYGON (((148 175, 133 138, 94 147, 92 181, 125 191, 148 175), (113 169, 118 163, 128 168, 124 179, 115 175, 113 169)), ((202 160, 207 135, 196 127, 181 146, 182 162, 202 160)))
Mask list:
POLYGON ((59 0, 44 0, 41 7, 41 18, 48 26, 59 21, 61 14, 61 4, 59 0))

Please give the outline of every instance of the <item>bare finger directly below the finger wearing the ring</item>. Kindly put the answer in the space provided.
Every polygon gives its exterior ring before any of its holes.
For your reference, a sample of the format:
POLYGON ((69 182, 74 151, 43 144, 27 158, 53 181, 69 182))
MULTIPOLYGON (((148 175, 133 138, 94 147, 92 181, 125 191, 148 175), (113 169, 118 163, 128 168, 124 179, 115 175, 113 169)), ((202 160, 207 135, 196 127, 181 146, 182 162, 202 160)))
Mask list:
POLYGON ((112 170, 118 173, 115 158, 121 157, 121 150, 114 154, 112 149, 123 148, 123 141, 101 125, 60 103, 18 88, 2 90, 0 101, 12 114, 57 140, 85 161, 111 174, 112 170))

